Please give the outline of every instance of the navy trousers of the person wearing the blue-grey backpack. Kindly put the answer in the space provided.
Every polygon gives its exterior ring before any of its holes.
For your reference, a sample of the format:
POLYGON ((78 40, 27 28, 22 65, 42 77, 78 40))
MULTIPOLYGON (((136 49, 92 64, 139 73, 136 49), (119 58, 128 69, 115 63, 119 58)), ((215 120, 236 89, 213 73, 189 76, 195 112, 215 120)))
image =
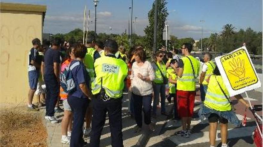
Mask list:
POLYGON ((82 127, 89 102, 88 98, 78 98, 71 95, 68 96, 68 104, 73 112, 70 147, 82 147, 84 145, 82 127))

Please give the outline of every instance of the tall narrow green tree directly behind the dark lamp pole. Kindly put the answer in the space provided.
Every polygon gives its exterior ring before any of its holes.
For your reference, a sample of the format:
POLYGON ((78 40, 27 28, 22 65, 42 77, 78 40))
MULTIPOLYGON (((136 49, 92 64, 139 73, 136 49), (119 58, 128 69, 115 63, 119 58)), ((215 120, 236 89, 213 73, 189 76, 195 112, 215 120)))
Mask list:
MULTIPOLYGON (((165 27, 166 18, 169 15, 166 8, 166 0, 158 0, 157 9, 158 9, 158 23, 157 23, 157 48, 161 48, 164 45, 163 41, 163 29, 165 27)), ((153 47, 153 32, 154 32, 154 12, 155 12, 155 2, 152 4, 152 9, 148 12, 149 26, 146 26, 144 29, 145 32, 145 49, 152 52, 153 47)))

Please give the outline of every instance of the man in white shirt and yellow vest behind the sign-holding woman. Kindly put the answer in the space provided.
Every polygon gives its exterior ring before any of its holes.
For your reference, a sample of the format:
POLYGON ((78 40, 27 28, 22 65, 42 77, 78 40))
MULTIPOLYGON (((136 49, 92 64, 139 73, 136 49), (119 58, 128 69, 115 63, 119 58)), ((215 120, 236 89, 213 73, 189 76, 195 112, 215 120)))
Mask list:
POLYGON ((205 63, 203 64, 202 73, 200 75, 200 97, 202 102, 204 102, 205 94, 207 93, 207 79, 212 75, 216 67, 216 65, 211 61, 212 55, 210 53, 206 53, 203 59, 205 63))

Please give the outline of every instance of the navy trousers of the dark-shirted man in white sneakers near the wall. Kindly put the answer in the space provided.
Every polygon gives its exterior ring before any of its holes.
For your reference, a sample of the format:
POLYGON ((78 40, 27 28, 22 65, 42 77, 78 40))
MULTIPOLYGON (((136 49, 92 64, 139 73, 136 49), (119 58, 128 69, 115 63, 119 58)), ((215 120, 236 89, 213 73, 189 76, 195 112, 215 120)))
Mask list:
POLYGON ((46 84, 46 116, 54 116, 54 108, 59 96, 59 83, 55 75, 44 75, 46 84))

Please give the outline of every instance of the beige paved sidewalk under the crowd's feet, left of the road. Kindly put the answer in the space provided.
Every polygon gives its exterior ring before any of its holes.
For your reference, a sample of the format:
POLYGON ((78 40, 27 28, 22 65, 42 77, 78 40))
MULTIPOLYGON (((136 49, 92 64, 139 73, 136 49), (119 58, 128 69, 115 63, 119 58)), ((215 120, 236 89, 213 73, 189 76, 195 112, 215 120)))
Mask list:
MULTIPOLYGON (((125 147, 130 146, 136 146, 140 143, 147 143, 148 140, 147 136, 149 135, 148 128, 144 124, 143 125, 143 131, 142 133, 134 133, 134 127, 136 126, 136 122, 134 118, 131 118, 128 114, 128 97, 127 94, 124 94, 123 96, 123 108, 122 108, 122 121, 123 121, 123 145, 125 147), (140 141, 139 141, 140 140, 140 141), (139 141, 139 142, 138 142, 139 141)), ((63 106, 60 106, 63 108, 63 106)), ((172 104, 167 105, 166 110, 169 111, 172 108, 172 104)), ((45 107, 42 107, 43 110, 43 119, 45 114, 45 107)), ((160 109, 158 109, 158 112, 160 113, 160 109)), ((48 132, 48 138, 47 138, 47 144, 49 147, 69 147, 67 144, 62 144, 61 141, 61 120, 63 117, 62 113, 55 113, 55 116, 59 119, 58 124, 51 124, 48 121, 45 121, 45 125, 48 132)), ((155 132, 152 134, 155 134, 155 136, 158 137, 160 130, 162 129, 163 125, 166 123, 167 116, 163 116, 158 114, 157 120, 152 118, 152 121, 156 123, 155 126, 155 132)), ((89 138, 84 138, 86 142, 89 143, 89 138)), ((160 140, 160 139, 158 139, 160 140)), ((100 138, 100 146, 102 147, 109 147, 111 146, 111 134, 110 134, 110 128, 109 128, 109 120, 108 116, 106 118, 105 126, 103 128, 103 132, 100 138)))

